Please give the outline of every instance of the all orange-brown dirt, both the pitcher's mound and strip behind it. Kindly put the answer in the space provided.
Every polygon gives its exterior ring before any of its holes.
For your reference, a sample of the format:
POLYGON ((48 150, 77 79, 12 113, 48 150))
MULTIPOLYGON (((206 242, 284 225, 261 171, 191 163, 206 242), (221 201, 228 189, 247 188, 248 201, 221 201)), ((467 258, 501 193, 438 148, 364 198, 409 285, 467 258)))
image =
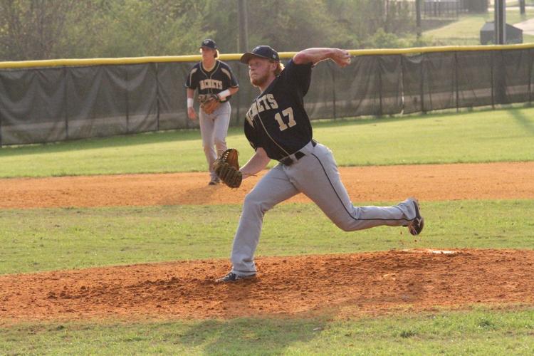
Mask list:
MULTIPOLYGON (((354 201, 534 199, 534 162, 340 169, 354 201)), ((0 179, 0 208, 239 203, 206 173, 0 179)), ((290 201, 308 201, 302 194, 290 201)), ((422 236, 424 238, 424 235, 422 236)), ((226 260, 0 276, 0 324, 85 318, 375 315, 465 305, 534 305, 534 251, 387 251, 258 258, 258 278, 213 282, 226 260)))

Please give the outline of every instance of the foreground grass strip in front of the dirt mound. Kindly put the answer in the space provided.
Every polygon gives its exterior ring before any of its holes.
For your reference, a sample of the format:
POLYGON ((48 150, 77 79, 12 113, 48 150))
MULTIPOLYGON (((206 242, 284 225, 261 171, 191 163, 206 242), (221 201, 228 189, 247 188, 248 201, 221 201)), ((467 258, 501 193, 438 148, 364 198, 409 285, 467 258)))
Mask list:
POLYGON ((532 355, 534 310, 337 320, 46 323, 0 329, 0 353, 48 355, 532 355))

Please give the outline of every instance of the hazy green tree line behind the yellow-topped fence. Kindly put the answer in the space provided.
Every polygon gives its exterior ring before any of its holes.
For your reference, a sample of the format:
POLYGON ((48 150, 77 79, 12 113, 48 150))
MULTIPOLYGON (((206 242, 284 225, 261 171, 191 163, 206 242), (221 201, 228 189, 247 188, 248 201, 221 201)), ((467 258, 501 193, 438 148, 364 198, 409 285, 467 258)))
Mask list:
MULTIPOLYGON (((250 47, 423 46, 413 1, 244 1, 250 47)), ((237 0, 0 0, 0 61, 238 53, 237 0)), ((250 49, 250 48, 249 48, 250 49)))

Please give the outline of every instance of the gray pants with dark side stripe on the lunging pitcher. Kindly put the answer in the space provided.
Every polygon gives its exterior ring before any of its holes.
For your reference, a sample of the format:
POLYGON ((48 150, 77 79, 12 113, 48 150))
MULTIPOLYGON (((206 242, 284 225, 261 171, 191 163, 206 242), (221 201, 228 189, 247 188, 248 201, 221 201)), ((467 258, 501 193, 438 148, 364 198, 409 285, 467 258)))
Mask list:
POLYGON ((411 199, 396 206, 353 206, 328 147, 320 144, 313 147, 310 142, 300 152, 305 156, 290 166, 278 164, 273 167, 246 195, 231 252, 232 272, 238 276, 256 273, 254 252, 260 238, 263 215, 276 204, 300 192, 345 231, 380 225, 403 226, 415 219, 411 199))

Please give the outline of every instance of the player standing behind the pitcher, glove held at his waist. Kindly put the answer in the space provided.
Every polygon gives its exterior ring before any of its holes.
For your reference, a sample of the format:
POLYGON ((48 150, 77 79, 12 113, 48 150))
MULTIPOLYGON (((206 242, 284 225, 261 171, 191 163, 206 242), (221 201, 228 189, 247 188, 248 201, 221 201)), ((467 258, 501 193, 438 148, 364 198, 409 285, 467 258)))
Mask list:
POLYGON ((216 59, 219 56, 216 43, 211 39, 202 41, 200 46, 202 61, 197 63, 187 75, 187 115, 195 120, 194 91, 198 90, 200 133, 202 146, 208 162, 209 184, 219 183, 214 172, 213 162, 226 150, 226 135, 230 123, 231 106, 229 99, 239 90, 234 73, 230 67, 216 59), (215 98, 214 100, 210 98, 215 98), (210 103, 209 103, 210 102, 210 103), (206 106, 204 106, 206 105, 206 106), (209 110, 207 109, 209 105, 209 110), (215 148, 216 147, 216 148, 215 148))

